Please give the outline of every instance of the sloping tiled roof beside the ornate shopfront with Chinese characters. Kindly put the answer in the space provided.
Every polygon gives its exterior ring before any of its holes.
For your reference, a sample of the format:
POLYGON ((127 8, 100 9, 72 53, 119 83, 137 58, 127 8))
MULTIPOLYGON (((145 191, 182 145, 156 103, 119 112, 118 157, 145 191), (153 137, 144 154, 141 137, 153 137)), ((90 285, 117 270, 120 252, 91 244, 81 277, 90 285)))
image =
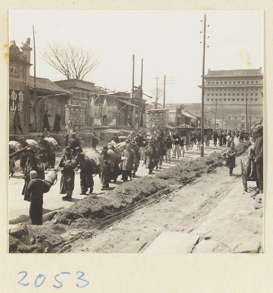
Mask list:
MULTIPOLYGON (((34 89, 34 77, 30 76, 29 87, 34 89)), ((50 81, 48 78, 36 78, 36 89, 37 92, 46 95, 54 95, 54 94, 66 94, 71 95, 71 92, 61 88, 59 85, 55 84, 54 82, 50 81)))

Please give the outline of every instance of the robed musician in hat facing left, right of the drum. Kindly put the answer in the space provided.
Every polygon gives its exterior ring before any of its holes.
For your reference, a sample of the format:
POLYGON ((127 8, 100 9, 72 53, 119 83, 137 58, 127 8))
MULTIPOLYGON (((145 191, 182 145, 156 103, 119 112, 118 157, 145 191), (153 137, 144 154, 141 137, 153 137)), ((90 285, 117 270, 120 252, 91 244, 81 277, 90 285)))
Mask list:
POLYGON ((74 190, 75 172, 77 162, 72 155, 72 149, 70 146, 66 146, 63 150, 63 155, 59 162, 59 167, 63 167, 61 170, 60 178, 60 194, 66 194, 62 197, 62 200, 71 201, 74 190))

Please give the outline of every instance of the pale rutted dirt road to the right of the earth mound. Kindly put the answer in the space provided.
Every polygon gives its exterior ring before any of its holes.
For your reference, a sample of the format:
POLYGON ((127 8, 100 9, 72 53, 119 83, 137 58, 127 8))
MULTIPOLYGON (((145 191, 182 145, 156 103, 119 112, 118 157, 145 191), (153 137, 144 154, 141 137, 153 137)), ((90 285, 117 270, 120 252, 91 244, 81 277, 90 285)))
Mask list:
MULTIPOLYGON (((263 209, 243 191, 240 158, 234 176, 218 167, 194 183, 136 210, 70 252, 143 252, 162 231, 200 236, 192 252, 262 252, 263 209)), ((249 183, 250 191, 254 183, 249 183)), ((88 234, 88 231, 86 231, 88 234)))

